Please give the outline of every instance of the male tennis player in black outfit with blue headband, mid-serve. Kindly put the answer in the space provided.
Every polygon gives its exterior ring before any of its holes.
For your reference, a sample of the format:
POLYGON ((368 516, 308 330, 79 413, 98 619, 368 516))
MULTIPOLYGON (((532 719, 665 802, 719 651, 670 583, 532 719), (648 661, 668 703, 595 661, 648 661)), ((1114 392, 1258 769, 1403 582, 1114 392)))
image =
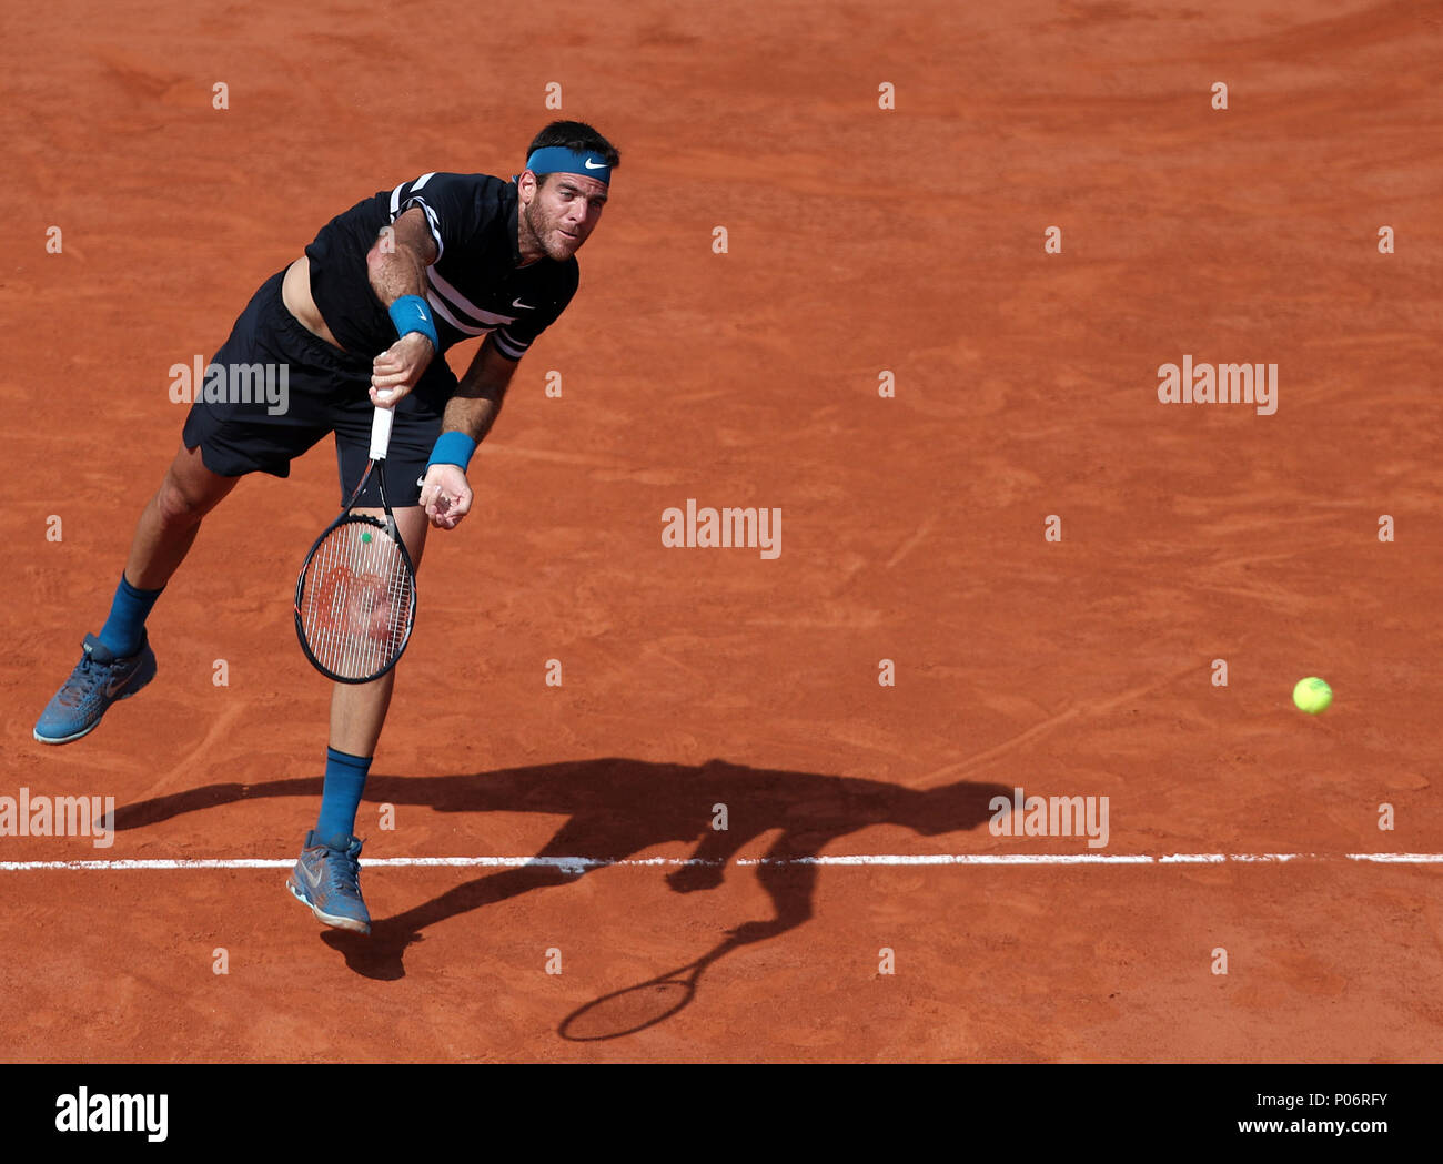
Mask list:
MULTIPOLYGON (((85 636, 35 738, 87 736, 113 702, 154 678, 146 617, 201 521, 244 475, 289 476, 291 459, 333 433, 343 505, 365 470, 375 407, 394 408, 387 486, 420 568, 427 525, 455 529, 470 509, 466 467, 517 362, 576 294, 576 251, 600 221, 618 163, 590 125, 554 121, 509 182, 460 173, 403 182, 328 222, 304 255, 271 275, 212 365, 286 366, 289 407, 273 414, 266 400, 206 402, 196 392, 180 450, 140 515, 110 616, 85 636), (443 353, 475 336, 485 339, 457 381, 443 353), (377 389, 394 395, 382 401, 377 389)), ((368 501, 380 501, 374 483, 368 501)), ((317 919, 361 933, 371 917, 355 818, 394 679, 392 669, 335 685, 320 814, 287 880, 317 919)))

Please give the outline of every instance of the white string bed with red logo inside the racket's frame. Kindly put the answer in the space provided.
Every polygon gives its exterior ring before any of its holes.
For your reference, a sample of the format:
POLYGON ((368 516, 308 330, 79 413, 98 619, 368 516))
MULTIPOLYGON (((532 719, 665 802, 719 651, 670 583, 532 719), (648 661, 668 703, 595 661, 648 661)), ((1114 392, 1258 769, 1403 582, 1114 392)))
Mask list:
POLYGON ((365 679, 405 646, 416 600, 411 571, 384 528, 345 522, 320 542, 306 568, 300 623, 326 671, 365 679))

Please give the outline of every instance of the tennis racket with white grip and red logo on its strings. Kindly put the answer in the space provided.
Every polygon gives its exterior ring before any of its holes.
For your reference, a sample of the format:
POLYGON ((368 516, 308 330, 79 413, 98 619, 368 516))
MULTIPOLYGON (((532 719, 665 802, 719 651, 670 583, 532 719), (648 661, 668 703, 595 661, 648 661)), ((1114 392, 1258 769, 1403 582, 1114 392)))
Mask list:
MULTIPOLYGON (((390 397, 390 392, 381 392, 390 397)), ((400 661, 416 625, 416 567, 385 495, 390 408, 371 420, 371 459, 346 508, 306 554, 296 578, 296 636, 328 679, 368 684, 400 661), (354 512, 371 475, 385 521, 354 512)))

